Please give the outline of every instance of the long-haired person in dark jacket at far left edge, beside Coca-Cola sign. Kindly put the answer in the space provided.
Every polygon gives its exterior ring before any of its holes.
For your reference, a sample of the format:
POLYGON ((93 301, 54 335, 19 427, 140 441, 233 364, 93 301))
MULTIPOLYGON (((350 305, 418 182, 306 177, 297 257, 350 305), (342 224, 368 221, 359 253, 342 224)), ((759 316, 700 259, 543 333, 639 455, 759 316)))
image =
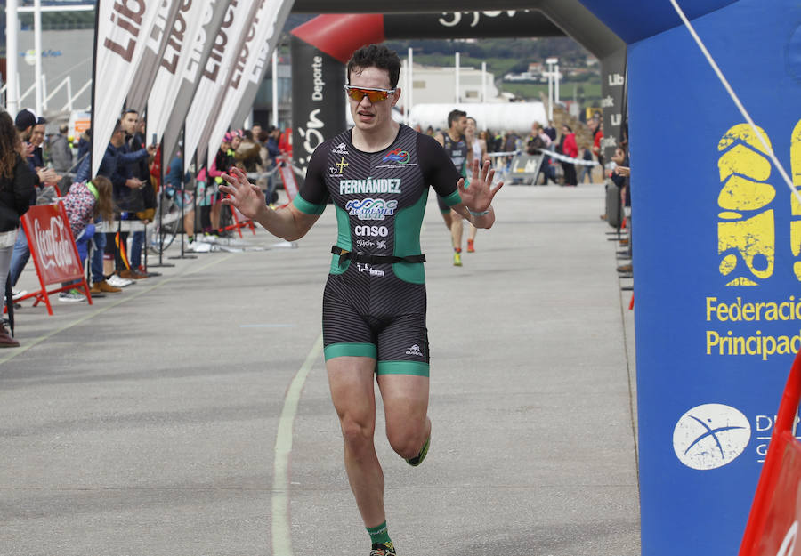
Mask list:
MULTIPOLYGON (((5 306, 5 286, 14 242, 20 228, 20 216, 28 212, 31 199, 36 199, 34 174, 20 153, 22 141, 7 112, 0 112, 0 284, 5 306)), ((15 348, 20 342, 14 340, 3 324, 0 324, 0 348, 15 348)))

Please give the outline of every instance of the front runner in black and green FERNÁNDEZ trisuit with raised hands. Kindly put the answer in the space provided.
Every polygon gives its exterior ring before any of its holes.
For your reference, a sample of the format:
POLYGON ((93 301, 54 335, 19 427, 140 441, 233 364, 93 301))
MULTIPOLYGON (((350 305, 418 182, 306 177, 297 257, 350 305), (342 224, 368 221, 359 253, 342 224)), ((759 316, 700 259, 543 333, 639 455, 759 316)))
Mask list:
POLYGON ((420 226, 429 184, 465 219, 490 228, 490 205, 502 183, 473 165, 465 190, 448 154, 433 138, 392 120, 401 60, 371 44, 348 62, 346 90, 354 127, 320 144, 303 188, 286 208, 271 209, 238 169, 223 176, 223 203, 294 241, 332 200, 338 234, 323 294, 328 384, 344 437, 344 463, 368 529, 371 556, 392 556, 384 512, 384 473, 376 457, 374 380, 384 401, 392 449, 423 462, 431 439, 428 341, 420 226))

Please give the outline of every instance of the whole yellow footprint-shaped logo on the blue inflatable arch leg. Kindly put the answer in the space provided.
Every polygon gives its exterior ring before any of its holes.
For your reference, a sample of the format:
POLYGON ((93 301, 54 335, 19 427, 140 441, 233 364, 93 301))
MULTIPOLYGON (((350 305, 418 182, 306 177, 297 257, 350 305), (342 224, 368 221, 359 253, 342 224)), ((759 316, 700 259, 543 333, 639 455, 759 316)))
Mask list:
MULTIPOLYGON (((757 129, 770 146, 765 132, 757 129)), ((717 160, 722 183, 717 197, 721 209, 717 222, 717 253, 722 255, 719 270, 732 278, 726 286, 758 286, 756 280, 773 275, 776 259, 773 209, 766 208, 776 197, 776 190, 766 183, 771 161, 748 124, 734 125, 724 133, 717 150, 722 153, 717 160)), ((793 214, 796 209, 801 216, 801 206, 793 205, 793 214)), ((794 245, 801 248, 801 221, 793 223, 799 226, 794 245)))

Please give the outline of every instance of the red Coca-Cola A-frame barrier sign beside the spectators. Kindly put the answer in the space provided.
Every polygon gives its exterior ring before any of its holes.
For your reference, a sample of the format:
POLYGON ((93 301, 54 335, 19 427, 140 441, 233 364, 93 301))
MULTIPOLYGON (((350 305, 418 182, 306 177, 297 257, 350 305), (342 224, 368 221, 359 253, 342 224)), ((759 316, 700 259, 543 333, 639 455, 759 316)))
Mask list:
POLYGON ((89 294, 89 286, 84 276, 84 265, 78 256, 64 205, 59 203, 31 206, 22 216, 22 229, 28 238, 30 254, 36 266, 41 289, 21 299, 35 297, 34 306, 44 302, 47 305, 47 312, 51 315, 53 307, 48 297, 51 294, 72 288, 82 289, 86 299, 92 303, 92 296, 89 294), (61 286, 64 282, 76 280, 80 280, 80 283, 61 286), (53 284, 59 284, 60 287, 48 290, 47 286, 53 284))

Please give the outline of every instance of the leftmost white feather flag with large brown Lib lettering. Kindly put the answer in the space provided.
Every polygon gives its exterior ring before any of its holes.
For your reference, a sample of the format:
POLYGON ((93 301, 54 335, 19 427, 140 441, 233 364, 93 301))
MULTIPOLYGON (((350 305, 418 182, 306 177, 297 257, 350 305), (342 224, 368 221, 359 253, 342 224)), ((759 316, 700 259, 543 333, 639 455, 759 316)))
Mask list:
POLYGON ((160 5, 152 0, 97 2, 92 85, 92 175, 100 168, 160 5))

